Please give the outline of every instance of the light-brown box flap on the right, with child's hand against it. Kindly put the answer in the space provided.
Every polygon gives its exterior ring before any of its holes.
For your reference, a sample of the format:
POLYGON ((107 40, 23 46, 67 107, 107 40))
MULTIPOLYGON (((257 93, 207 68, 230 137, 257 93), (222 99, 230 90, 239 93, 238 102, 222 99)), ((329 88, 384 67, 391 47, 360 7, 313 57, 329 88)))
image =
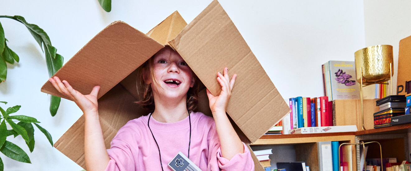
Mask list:
POLYGON ((217 72, 238 75, 227 113, 252 143, 290 111, 217 0, 169 43, 213 95, 221 91, 217 72))

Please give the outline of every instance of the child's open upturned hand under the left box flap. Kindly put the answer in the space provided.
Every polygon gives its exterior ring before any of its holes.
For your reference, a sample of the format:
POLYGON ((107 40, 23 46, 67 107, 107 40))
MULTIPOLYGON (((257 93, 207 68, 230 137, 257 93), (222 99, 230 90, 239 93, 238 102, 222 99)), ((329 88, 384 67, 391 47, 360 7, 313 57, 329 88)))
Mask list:
POLYGON ((57 76, 53 76, 48 81, 58 92, 74 101, 83 113, 96 113, 98 111, 97 94, 100 86, 96 85, 90 95, 83 95, 81 92, 74 90, 67 81, 60 81, 57 76))

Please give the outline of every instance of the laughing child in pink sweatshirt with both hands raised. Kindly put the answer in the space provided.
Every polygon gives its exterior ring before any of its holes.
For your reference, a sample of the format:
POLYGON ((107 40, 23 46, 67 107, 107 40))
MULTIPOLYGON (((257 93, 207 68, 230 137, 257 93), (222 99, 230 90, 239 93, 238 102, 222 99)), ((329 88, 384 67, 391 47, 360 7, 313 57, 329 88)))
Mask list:
POLYGON ((82 95, 67 81, 49 81, 70 97, 85 116, 85 163, 87 171, 171 171, 168 163, 182 152, 202 171, 254 171, 250 152, 226 116, 236 74, 231 81, 228 68, 217 73, 222 87, 219 96, 207 89, 213 118, 196 108, 196 76, 181 56, 169 46, 145 62, 138 103, 154 111, 130 120, 120 128, 106 150, 99 122, 95 86, 82 95), (194 87, 194 88, 193 88, 194 87))

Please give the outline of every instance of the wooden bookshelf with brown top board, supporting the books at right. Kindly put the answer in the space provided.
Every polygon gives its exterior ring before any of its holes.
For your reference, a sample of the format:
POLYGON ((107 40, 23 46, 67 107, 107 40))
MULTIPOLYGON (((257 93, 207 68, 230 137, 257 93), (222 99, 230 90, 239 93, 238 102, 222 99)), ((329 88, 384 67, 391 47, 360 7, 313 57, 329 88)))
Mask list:
MULTIPOLYGON (((263 135, 255 143, 252 143, 251 146, 253 147, 294 145, 297 152, 297 149, 301 145, 310 146, 311 143, 320 141, 340 141, 342 143, 359 143, 360 141, 379 141, 382 147, 383 158, 395 157, 398 161, 403 161, 409 160, 407 132, 410 128, 411 123, 376 129, 361 130, 356 132, 263 135)), ((353 171, 357 171, 360 168, 359 151, 359 146, 353 146, 353 171)), ((369 145, 368 151, 370 153, 367 153, 367 158, 379 158, 379 146, 369 145)))

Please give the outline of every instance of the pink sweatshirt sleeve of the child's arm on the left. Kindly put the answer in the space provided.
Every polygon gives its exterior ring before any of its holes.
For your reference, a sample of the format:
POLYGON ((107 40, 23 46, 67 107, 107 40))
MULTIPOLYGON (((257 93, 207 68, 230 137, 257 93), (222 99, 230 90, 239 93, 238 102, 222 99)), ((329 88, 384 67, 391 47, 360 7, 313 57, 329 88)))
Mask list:
POLYGON ((118 130, 117 135, 111 140, 111 148, 107 149, 109 153, 110 161, 104 171, 135 171, 135 158, 138 157, 137 144, 130 144, 128 142, 135 142, 132 139, 135 135, 131 135, 130 132, 134 132, 125 125, 118 130), (137 148, 136 148, 137 147, 137 148))

